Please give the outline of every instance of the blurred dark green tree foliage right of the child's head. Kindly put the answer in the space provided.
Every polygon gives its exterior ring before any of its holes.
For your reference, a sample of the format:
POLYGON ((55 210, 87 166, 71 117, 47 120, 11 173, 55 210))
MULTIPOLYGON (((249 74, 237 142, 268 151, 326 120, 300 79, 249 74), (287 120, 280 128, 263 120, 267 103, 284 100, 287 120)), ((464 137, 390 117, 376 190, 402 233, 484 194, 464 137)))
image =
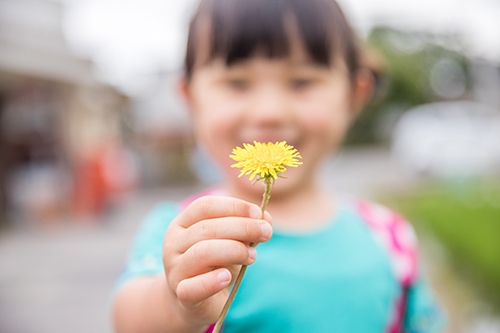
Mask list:
POLYGON ((384 79, 379 85, 383 98, 361 114, 348 135, 348 144, 379 142, 377 123, 388 112, 401 114, 413 106, 439 100, 429 80, 439 60, 455 60, 468 72, 467 58, 455 50, 459 48, 460 38, 454 35, 376 27, 366 42, 385 67, 384 79))

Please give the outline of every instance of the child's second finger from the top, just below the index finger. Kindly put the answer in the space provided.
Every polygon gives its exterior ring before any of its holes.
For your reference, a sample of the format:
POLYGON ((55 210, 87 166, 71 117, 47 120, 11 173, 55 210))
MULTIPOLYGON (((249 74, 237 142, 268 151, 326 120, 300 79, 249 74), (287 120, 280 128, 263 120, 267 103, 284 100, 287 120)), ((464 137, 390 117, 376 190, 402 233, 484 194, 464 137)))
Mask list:
POLYGON ((217 218, 195 223, 178 240, 177 251, 184 253, 194 244, 209 239, 232 239, 245 243, 267 242, 273 233, 264 220, 250 218, 217 218))

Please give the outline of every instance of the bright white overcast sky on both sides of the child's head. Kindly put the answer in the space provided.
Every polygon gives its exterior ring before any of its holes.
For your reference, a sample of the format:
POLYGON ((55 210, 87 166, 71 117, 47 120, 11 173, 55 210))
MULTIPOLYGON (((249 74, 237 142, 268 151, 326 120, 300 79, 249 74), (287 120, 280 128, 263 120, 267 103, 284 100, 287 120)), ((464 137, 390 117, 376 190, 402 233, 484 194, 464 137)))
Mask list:
MULTIPOLYGON (((187 22, 198 0, 63 0, 72 49, 98 73, 141 93, 158 69, 182 64, 187 22)), ((363 36, 376 24, 458 32, 471 55, 500 62, 498 0, 338 0, 363 36)))

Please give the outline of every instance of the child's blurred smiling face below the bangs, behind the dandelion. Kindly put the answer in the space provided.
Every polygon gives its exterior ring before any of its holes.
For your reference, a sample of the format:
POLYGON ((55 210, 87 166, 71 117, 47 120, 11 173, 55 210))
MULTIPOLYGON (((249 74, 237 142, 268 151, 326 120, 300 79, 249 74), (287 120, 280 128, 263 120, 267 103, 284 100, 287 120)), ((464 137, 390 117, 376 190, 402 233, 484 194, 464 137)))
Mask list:
POLYGON ((318 162, 341 144, 354 114, 352 81, 338 63, 328 68, 300 56, 254 57, 229 67, 213 61, 194 71, 185 92, 195 134, 231 185, 261 192, 230 167, 231 150, 254 140, 287 141, 303 157, 274 194, 313 181, 318 162))

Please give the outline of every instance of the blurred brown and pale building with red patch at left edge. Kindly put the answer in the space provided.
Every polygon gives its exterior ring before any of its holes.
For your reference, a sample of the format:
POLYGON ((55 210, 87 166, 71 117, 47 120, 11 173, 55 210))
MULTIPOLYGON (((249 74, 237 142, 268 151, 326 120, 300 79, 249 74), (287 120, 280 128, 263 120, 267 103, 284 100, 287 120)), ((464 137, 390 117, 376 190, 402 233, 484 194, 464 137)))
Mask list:
POLYGON ((127 174, 118 166, 128 98, 71 54, 62 10, 58 1, 0 0, 2 220, 97 213, 127 174))

